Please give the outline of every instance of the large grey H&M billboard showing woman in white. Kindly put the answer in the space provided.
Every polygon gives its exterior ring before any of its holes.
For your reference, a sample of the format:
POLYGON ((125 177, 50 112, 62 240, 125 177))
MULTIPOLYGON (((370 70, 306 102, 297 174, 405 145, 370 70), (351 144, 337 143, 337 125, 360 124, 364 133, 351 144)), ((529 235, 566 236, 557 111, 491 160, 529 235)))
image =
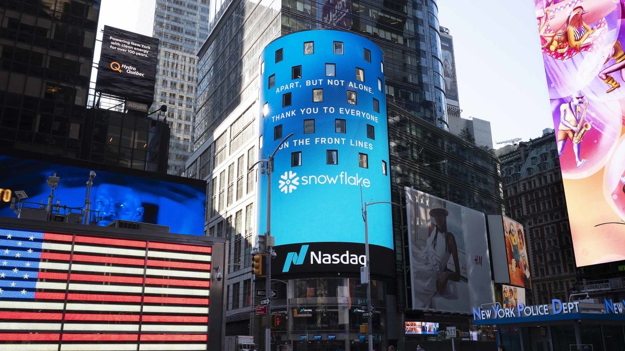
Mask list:
POLYGON ((467 313, 494 302, 484 214, 404 189, 412 309, 467 313))

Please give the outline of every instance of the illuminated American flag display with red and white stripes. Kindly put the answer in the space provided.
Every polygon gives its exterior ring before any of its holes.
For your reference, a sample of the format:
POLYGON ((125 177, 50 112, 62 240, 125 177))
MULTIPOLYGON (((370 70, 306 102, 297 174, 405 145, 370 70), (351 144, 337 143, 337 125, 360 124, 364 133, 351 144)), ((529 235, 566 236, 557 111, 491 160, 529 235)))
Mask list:
POLYGON ((0 229, 0 351, 207 350, 211 254, 0 229))

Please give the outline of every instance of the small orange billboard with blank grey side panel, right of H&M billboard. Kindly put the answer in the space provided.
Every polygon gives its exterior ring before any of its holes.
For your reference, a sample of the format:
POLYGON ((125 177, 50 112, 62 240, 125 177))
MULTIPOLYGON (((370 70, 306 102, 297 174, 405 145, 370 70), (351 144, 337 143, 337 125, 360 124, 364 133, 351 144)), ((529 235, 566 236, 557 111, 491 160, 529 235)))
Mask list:
POLYGON ((488 215, 495 282, 531 288, 523 225, 505 215, 488 215))

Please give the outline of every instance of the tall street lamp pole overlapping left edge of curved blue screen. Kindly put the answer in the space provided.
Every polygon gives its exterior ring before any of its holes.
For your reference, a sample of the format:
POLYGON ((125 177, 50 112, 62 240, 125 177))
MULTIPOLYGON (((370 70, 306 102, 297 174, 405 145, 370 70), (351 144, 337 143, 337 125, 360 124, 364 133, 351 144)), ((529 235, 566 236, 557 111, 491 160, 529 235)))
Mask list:
POLYGON ((266 319, 265 319, 267 321, 267 323, 265 324, 265 351, 271 350, 271 325, 269 324, 269 320, 271 319, 271 259, 276 257, 276 252, 274 252, 272 248, 273 244, 271 240, 269 240, 269 238, 271 237, 271 173, 273 172, 273 160, 274 160, 274 156, 276 156, 276 152, 280 149, 280 147, 282 146, 282 144, 284 144, 284 142, 286 142, 290 137, 294 135, 295 133, 291 133, 287 135, 286 137, 284 137, 284 139, 282 139, 282 141, 279 144, 277 144, 276 149, 274 150, 274 152, 271 153, 271 156, 269 156, 268 159, 262 159, 252 164, 252 166, 249 167, 248 169, 248 171, 251 171, 251 169, 254 168, 254 166, 262 163, 265 167, 265 174, 267 174, 267 219, 266 219, 267 231, 265 232, 265 253, 267 254, 267 263, 266 263, 267 277, 265 280, 265 297, 266 299, 269 299, 269 304, 267 305, 267 314, 266 314, 266 319))

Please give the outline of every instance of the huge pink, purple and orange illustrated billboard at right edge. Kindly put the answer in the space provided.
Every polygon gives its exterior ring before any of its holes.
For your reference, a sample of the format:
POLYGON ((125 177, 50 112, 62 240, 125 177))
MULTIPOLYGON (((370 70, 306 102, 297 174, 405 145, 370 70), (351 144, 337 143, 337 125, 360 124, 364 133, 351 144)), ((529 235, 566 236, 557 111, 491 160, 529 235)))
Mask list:
POLYGON ((535 0, 577 266, 625 259, 622 0, 535 0))

